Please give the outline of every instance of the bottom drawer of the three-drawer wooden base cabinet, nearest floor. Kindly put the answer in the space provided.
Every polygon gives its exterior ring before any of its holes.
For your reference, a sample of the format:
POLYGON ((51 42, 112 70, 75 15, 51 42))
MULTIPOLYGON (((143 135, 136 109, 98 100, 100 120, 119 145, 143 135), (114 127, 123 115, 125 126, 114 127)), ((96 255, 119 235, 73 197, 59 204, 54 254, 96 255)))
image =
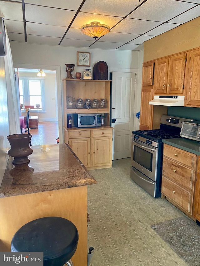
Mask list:
POLYGON ((168 178, 162 178, 162 189, 161 193, 176 203, 178 206, 186 210, 188 213, 192 213, 191 204, 191 192, 176 185, 168 178))

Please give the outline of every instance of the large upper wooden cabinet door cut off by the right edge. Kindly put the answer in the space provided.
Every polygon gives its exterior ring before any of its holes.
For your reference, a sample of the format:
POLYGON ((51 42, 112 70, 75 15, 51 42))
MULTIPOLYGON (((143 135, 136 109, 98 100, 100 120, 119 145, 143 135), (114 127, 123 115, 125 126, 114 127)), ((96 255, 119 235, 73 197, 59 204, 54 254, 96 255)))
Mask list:
POLYGON ((200 106, 200 49, 190 53, 186 105, 200 106))

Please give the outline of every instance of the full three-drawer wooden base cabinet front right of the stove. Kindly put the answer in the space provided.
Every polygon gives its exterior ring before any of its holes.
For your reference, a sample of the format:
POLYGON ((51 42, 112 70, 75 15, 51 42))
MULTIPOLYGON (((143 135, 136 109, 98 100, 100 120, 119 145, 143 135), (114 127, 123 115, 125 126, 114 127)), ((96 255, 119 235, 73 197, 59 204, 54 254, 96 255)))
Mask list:
POLYGON ((197 155, 164 144, 161 193, 192 215, 197 155))

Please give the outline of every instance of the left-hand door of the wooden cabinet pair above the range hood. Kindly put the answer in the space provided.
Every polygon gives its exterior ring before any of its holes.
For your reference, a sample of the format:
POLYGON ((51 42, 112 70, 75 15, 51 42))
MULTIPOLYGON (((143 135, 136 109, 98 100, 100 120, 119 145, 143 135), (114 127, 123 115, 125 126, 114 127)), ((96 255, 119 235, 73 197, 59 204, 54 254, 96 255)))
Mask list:
POLYGON ((155 61, 154 85, 155 94, 167 93, 168 58, 155 61))

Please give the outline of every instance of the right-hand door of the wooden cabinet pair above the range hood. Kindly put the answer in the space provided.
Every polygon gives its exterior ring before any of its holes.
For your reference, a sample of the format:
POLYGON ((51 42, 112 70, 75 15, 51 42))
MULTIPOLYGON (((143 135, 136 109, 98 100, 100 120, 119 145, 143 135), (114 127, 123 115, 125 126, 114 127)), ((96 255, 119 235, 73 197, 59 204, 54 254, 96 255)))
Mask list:
POLYGON ((186 53, 169 58, 167 92, 183 93, 186 53))

